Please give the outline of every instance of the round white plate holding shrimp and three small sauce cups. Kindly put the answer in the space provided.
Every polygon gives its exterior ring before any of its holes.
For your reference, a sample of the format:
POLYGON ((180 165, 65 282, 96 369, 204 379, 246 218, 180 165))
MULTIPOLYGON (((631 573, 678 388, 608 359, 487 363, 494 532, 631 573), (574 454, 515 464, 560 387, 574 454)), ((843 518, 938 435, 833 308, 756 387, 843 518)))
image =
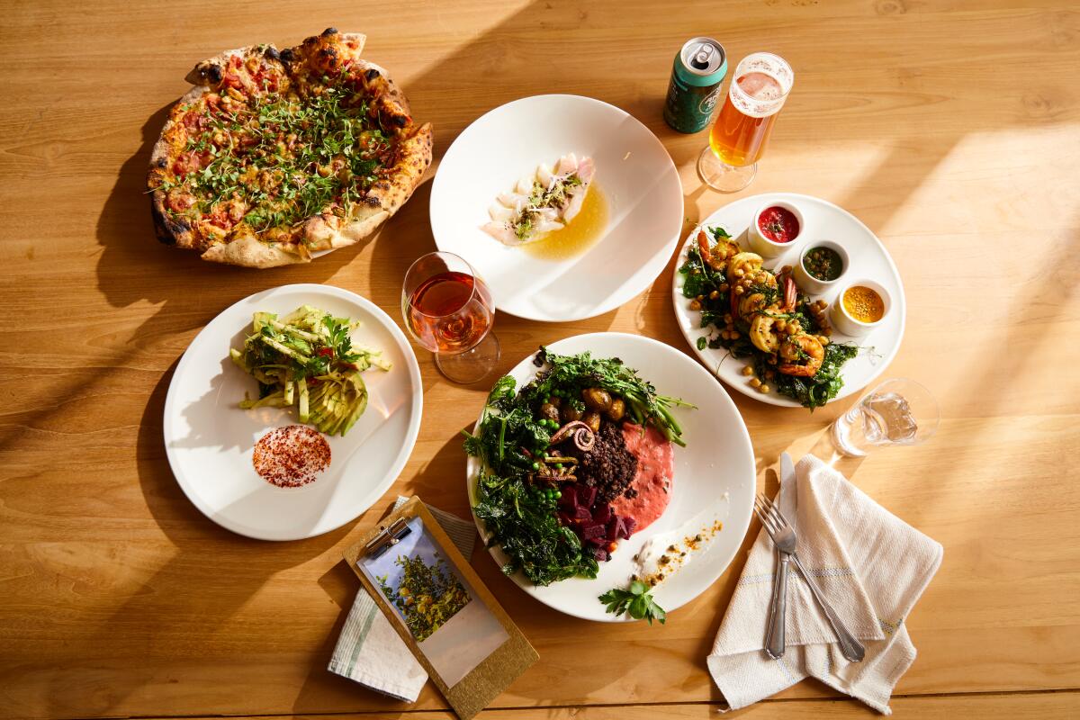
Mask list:
MULTIPOLYGON (((716 336, 717 329, 711 331, 701 327, 701 313, 690 310, 689 298, 683 297, 684 275, 678 269, 686 261, 686 254, 691 243, 697 243, 698 230, 701 227, 720 226, 739 242, 744 249, 750 249, 746 242, 746 229, 753 221, 754 213, 768 203, 775 201, 787 201, 796 205, 806 220, 806 232, 809 233, 805 243, 785 252, 780 257, 766 259, 765 267, 772 270, 782 268, 785 264, 794 266, 798 262, 799 253, 808 247, 806 243, 812 245, 814 241, 832 240, 842 245, 848 252, 851 267, 843 275, 843 282, 849 280, 865 279, 875 280, 888 290, 892 297, 892 310, 889 316, 879 327, 874 328, 868 335, 862 338, 849 338, 834 329, 833 340, 836 342, 853 342, 863 351, 843 365, 840 375, 843 378, 843 388, 829 403, 856 393, 874 381, 885 368, 888 367, 896 351, 900 350, 900 341, 904 337, 904 317, 907 314, 907 304, 904 300, 904 285, 900 281, 900 272, 889 256, 889 250, 885 248, 869 228, 862 223, 851 213, 842 209, 827 200, 802 195, 794 192, 772 192, 762 195, 753 195, 737 200, 730 205, 725 205, 705 218, 698 228, 687 237, 683 249, 679 250, 679 259, 675 266, 675 282, 672 287, 672 299, 675 305, 675 316, 678 318, 679 329, 686 337, 687 342, 705 364, 716 373, 716 377, 728 383, 743 395, 753 397, 756 400, 779 405, 782 407, 801 407, 798 403, 769 393, 764 395, 747 383, 747 378, 742 375, 745 365, 743 359, 730 357, 724 348, 713 350, 706 347, 698 350, 698 338, 710 335, 716 336)), ((814 299, 824 299, 831 303, 836 299, 840 288, 835 287, 825 295, 811 296, 814 299)))

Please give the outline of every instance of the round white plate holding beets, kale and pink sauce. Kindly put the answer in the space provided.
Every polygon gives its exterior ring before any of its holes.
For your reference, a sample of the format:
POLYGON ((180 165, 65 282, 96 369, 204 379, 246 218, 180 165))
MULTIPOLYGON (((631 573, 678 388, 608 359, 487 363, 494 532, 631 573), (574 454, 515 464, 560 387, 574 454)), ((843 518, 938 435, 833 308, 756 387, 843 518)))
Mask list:
MULTIPOLYGON (((619 357, 638 371, 663 395, 680 397, 697 409, 675 408, 683 426, 686 447, 675 447, 675 477, 671 504, 659 520, 619 544, 607 562, 600 562, 594 580, 571 578, 545 587, 537 587, 516 572, 514 582, 544 604, 583 620, 620 622, 604 610, 596 598, 612 587, 625 587, 633 570, 633 558, 650 538, 664 534, 664 547, 675 539, 694 535, 715 520, 724 529, 700 551, 690 554, 689 563, 662 582, 653 592, 657 602, 667 611, 698 597, 727 569, 742 543, 754 504, 755 465, 750 434, 734 403, 724 388, 703 367, 684 353, 662 342, 622 332, 594 332, 566 338, 548 345, 562 355, 590 351, 594 357, 619 357)), ((517 388, 536 377, 537 367, 529 355, 510 375, 517 388)), ((476 504, 476 474, 480 461, 470 458, 468 479, 470 506, 476 504)), ((475 516, 474 516, 475 519, 475 516)), ((487 538, 476 520, 481 536, 487 538)), ((507 556, 499 547, 490 548, 500 565, 507 556)))

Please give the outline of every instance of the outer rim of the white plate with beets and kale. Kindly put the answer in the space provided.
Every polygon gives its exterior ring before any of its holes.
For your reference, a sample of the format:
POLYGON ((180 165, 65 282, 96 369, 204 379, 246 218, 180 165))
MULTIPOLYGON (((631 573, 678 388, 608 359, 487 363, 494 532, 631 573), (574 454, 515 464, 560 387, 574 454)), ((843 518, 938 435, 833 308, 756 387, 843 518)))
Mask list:
MULTIPOLYGON (((674 345, 667 344, 666 342, 662 342, 660 340, 656 340, 653 338, 646 337, 644 335, 634 335, 632 332, 619 332, 619 331, 579 332, 577 335, 570 335, 570 336, 566 336, 564 338, 559 338, 558 340, 555 340, 555 341, 550 342, 550 343, 544 343, 544 348, 553 348, 553 349, 555 349, 557 351, 558 349, 555 348, 555 345, 557 345, 558 343, 568 341, 568 340, 576 340, 576 339, 583 339, 583 338, 594 338, 594 337, 611 337, 611 336, 618 337, 620 339, 626 339, 630 342, 642 342, 642 343, 647 344, 647 345, 649 345, 649 344, 651 344, 651 345, 658 345, 658 347, 660 347, 660 348, 662 348, 662 349, 664 349, 666 351, 670 351, 670 352, 672 352, 672 353, 674 353, 674 354, 676 354, 678 356, 685 357, 690 363, 691 366, 698 368, 698 370, 696 370, 696 371, 700 371, 700 372, 704 373, 704 376, 706 378, 708 378, 708 376, 711 376, 711 373, 708 372, 708 370, 705 367, 703 367, 700 363, 696 362, 693 357, 690 357, 685 352, 678 350, 674 345)), ((512 368, 510 368, 509 370, 507 370, 507 372, 504 375, 512 375, 518 367, 521 367, 523 365, 527 366, 527 364, 529 364, 529 363, 532 362, 534 355, 535 355, 535 352, 526 355, 525 357, 522 358, 522 361, 519 363, 515 364, 512 368)), ((537 369, 539 369, 539 368, 537 368, 537 369)), ((530 371, 530 372, 535 373, 535 371, 530 371)), ((713 382, 712 378, 708 378, 708 379, 710 379, 710 382, 713 382)), ((750 501, 747 502, 746 507, 744 508, 745 512, 744 513, 740 513, 739 517, 734 516, 734 513, 735 513, 735 511, 738 508, 733 504, 730 505, 731 515, 729 516, 728 520, 725 521, 725 524, 724 524, 725 529, 727 529, 728 527, 733 527, 733 522, 735 522, 737 520, 739 520, 740 517, 742 518, 742 521, 739 522, 739 527, 738 528, 734 528, 738 531, 737 534, 738 534, 739 541, 732 545, 731 552, 727 555, 727 557, 725 557, 724 563, 723 563, 723 568, 720 568, 720 570, 716 573, 716 575, 714 578, 710 579, 708 582, 705 583, 702 586, 701 590, 699 590, 697 594, 693 594, 693 595, 687 597, 681 602, 678 602, 676 604, 672 604, 671 608, 669 608, 666 610, 666 612, 669 612, 669 613, 674 612, 674 611, 678 610, 679 608, 681 608, 681 607, 684 607, 686 604, 689 604, 693 600, 696 600, 699 597, 701 597, 701 595, 703 595, 710 587, 712 587, 716 583, 716 581, 719 580, 720 576, 724 575, 724 573, 726 573, 728 570, 730 570, 731 562, 735 559, 735 556, 739 554, 739 551, 742 547, 742 543, 743 543, 743 541, 746 538, 746 532, 750 530, 751 519, 752 519, 752 516, 754 514, 754 510, 753 510, 754 500, 753 499, 754 499, 754 494, 755 494, 756 489, 757 489, 757 485, 756 485, 757 484, 757 465, 756 465, 756 456, 754 454, 754 444, 753 444, 753 441, 751 440, 751 437, 750 437, 750 429, 746 426, 746 421, 745 421, 745 419, 743 419, 742 413, 739 411, 739 406, 735 405, 734 400, 731 398, 731 395, 727 392, 727 390, 724 388, 724 385, 716 385, 716 386, 720 391, 720 395, 723 396, 723 399, 720 402, 721 403, 726 403, 727 406, 728 406, 728 408, 731 410, 733 417, 739 420, 738 427, 740 427, 742 430, 739 439, 740 439, 740 441, 741 441, 741 444, 743 446, 743 450, 745 450, 745 452, 746 452, 746 454, 747 454, 747 457, 750 459, 750 467, 751 467, 751 471, 752 471, 753 475, 752 475, 751 478, 747 478, 747 479, 751 479, 754 483, 754 490, 750 493, 750 501)), ((486 400, 487 400, 487 396, 486 395, 484 397, 484 400, 486 403, 486 400)), ((481 409, 481 412, 483 412, 483 408, 481 409)), ((476 429, 477 429, 478 425, 480 425, 480 416, 477 416, 476 423, 473 425, 473 431, 472 431, 473 433, 476 432, 476 429)), ((730 429, 726 429, 726 431, 730 432, 730 429)), ((491 557, 492 561, 495 561, 496 566, 498 567, 499 566, 499 560, 495 556, 495 551, 497 551, 499 548, 496 545, 487 546, 487 540, 488 540, 488 538, 490 538, 490 533, 488 533, 486 531, 486 529, 483 526, 481 519, 478 517, 476 517, 476 513, 473 512, 473 498, 475 497, 475 488, 476 488, 476 471, 478 470, 480 462, 481 462, 480 458, 475 458, 475 457, 471 457, 471 456, 467 457, 467 463, 465 463, 465 493, 467 493, 468 499, 469 499, 469 514, 472 516, 473 525, 476 526, 476 530, 480 533, 481 540, 485 544, 485 549, 487 551, 488 555, 491 557)), ((605 614, 603 617, 597 619, 597 617, 592 617, 592 616, 586 616, 586 615, 583 615, 583 614, 579 614, 577 612, 573 612, 571 610, 567 610, 567 609, 564 609, 564 608, 561 608, 561 607, 556 607, 556 606, 552 604, 551 602, 549 602, 546 599, 544 599, 542 597, 539 597, 534 592, 535 590, 535 586, 532 586, 531 584, 529 584, 528 581, 527 581, 527 579, 524 579, 522 576, 521 571, 517 571, 513 575, 510 575, 509 580, 511 582, 513 582, 514 585, 517 586, 522 592, 524 592, 526 595, 528 595, 529 597, 531 597, 534 600, 536 600, 536 601, 544 604, 548 608, 551 608, 552 610, 554 610, 556 612, 561 612, 561 613, 563 613, 565 615, 569 615, 571 617, 577 617, 579 620, 584 620, 584 621, 595 622, 595 623, 635 623, 635 622, 638 622, 637 620, 635 620, 633 617, 629 617, 625 614, 624 615, 619 615, 619 616, 605 614)), ((568 580, 573 580, 573 579, 571 578, 571 579, 568 579, 568 580)))

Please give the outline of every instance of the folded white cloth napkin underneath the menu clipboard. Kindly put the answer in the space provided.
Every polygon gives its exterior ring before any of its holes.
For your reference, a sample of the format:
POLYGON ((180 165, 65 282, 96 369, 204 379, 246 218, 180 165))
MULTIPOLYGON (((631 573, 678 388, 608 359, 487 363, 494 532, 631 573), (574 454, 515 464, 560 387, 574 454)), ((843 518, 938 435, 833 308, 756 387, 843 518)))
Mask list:
MULTIPOLYGON (((406 501, 408 498, 399 497, 393 508, 406 501)), ((462 520, 431 505, 428 510, 461 554, 470 557, 476 543, 476 526, 472 520, 462 520)), ((363 586, 356 593, 327 669, 407 703, 416 702, 428 681, 427 671, 363 586)))

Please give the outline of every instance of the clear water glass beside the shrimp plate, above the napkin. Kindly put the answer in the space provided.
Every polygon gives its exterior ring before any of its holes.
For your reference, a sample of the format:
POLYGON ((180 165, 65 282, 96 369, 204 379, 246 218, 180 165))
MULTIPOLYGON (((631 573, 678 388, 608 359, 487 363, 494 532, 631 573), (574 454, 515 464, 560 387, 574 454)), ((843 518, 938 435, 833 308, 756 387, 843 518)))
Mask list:
POLYGON ((886 380, 833 423, 837 450, 861 458, 870 448, 917 445, 934 434, 941 411, 929 390, 907 378, 886 380))

